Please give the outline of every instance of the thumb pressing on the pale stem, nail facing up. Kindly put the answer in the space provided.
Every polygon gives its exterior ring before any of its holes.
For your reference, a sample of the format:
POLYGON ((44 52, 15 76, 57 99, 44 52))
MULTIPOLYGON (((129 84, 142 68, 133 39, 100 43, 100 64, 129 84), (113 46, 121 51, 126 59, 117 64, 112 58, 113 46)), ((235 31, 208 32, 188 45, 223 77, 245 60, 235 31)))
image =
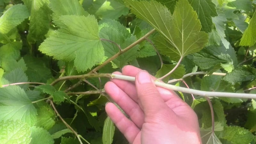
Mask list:
POLYGON ((154 80, 147 71, 141 70, 137 74, 135 78, 135 85, 137 95, 145 115, 154 115, 159 112, 159 109, 167 107, 160 96, 160 93, 156 89, 154 80))

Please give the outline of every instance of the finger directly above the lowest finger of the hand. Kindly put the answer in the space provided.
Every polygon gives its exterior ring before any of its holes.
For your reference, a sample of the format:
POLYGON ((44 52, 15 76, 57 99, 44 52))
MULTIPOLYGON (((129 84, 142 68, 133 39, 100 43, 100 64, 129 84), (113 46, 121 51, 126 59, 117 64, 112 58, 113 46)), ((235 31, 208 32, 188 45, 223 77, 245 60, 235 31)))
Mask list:
POLYGON ((124 110, 134 124, 139 128, 142 128, 142 124, 144 123, 144 113, 140 106, 113 82, 105 84, 105 91, 111 99, 113 99, 116 104, 124 110))

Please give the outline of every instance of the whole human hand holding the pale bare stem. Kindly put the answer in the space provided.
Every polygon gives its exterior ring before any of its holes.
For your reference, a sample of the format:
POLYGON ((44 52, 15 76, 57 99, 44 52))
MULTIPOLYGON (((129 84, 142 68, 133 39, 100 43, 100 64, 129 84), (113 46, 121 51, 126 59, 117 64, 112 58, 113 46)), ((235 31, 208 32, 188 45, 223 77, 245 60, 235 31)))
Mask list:
POLYGON ((111 79, 105 91, 130 117, 113 103, 106 112, 132 144, 201 144, 196 113, 170 90, 156 87, 147 71, 125 66, 122 73, 136 76, 132 82, 111 79))

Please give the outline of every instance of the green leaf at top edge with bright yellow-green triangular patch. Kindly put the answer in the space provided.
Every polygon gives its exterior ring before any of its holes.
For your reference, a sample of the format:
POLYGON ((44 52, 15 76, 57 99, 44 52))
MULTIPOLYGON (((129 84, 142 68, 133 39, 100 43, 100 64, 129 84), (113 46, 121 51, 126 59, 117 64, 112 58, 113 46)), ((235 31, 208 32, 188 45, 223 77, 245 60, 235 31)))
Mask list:
POLYGON ((100 19, 117 19, 122 15, 129 13, 128 8, 122 0, 96 0, 88 10, 100 19))

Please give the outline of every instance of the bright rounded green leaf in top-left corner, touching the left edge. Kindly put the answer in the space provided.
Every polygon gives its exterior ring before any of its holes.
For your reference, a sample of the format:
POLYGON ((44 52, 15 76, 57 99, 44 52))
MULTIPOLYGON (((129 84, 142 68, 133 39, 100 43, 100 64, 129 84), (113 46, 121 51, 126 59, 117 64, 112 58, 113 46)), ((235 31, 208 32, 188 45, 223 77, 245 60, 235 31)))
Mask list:
POLYGON ((25 5, 13 5, 0 17, 0 33, 7 34, 28 17, 29 12, 25 5))

